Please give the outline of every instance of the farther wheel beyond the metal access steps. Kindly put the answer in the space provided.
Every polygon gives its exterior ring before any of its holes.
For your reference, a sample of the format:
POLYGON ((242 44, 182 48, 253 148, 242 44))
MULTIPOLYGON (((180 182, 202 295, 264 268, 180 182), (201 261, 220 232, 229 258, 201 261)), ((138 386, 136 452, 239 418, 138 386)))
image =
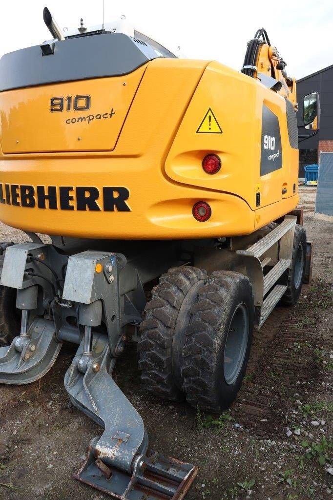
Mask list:
POLYGON ((288 272, 287 289, 281 297, 282 305, 294 305, 300 295, 305 272, 306 234, 303 226, 296 224, 293 236, 291 267, 288 272))

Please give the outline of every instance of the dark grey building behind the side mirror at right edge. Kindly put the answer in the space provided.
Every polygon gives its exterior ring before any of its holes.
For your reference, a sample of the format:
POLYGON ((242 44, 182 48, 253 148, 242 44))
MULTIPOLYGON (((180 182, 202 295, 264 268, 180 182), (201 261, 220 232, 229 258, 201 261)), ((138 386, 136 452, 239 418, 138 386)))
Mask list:
MULTIPOLYGON (((304 165, 317 163, 320 151, 333 152, 333 64, 297 81, 298 125, 303 125, 304 95, 318 92, 321 108, 319 131, 299 142, 299 177, 304 177, 304 165)), ((301 135, 313 131, 298 128, 301 135)))

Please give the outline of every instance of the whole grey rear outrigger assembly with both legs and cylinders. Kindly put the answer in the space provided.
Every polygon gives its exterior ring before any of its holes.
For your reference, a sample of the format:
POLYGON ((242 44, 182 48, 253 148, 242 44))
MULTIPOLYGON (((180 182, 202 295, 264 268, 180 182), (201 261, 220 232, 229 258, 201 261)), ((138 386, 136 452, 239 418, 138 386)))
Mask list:
MULTIPOLYGON (((160 265, 174 263, 173 247, 164 248, 160 264, 142 257, 146 280, 162 272, 160 265)), ((121 499, 182 498, 197 467, 147 451, 143 421, 111 378, 123 351, 122 327, 138 325, 145 304, 137 265, 126 265, 121 253, 68 256, 53 245, 23 243, 7 247, 1 285, 17 289, 22 319, 20 334, 0 348, 0 382, 32 382, 50 369, 63 340, 79 344, 64 385, 72 403, 104 432, 90 442, 75 477, 121 499)))

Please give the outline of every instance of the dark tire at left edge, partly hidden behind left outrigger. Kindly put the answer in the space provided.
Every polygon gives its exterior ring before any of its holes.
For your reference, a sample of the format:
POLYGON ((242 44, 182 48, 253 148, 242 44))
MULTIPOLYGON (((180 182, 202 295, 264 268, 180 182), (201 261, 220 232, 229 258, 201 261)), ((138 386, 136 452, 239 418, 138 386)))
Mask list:
MULTIPOLYGON (((3 253, 11 242, 0 243, 0 272, 3 253)), ((20 311, 16 309, 16 289, 0 285, 0 345, 9 345, 20 331, 20 311)))

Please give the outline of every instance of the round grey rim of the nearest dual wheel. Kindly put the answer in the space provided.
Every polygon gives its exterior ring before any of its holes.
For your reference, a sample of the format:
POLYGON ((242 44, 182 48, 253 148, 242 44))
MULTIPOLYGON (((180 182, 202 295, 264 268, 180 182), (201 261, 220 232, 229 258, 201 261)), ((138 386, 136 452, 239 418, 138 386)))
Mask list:
POLYGON ((224 346, 224 380, 232 384, 241 370, 248 339, 248 312, 246 305, 240 303, 235 308, 230 321, 224 346))

